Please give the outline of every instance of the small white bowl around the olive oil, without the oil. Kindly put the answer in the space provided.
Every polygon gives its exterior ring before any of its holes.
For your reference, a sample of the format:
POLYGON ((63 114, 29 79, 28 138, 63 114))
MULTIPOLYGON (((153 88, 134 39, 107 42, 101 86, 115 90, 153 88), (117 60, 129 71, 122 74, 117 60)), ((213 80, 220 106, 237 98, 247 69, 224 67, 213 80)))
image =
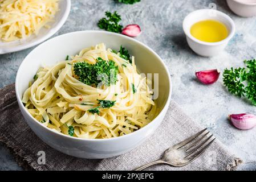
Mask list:
POLYGON ((188 14, 183 21, 183 30, 186 34, 186 40, 189 47, 200 56, 215 56, 224 50, 229 40, 235 33, 235 24, 233 20, 226 14, 218 10, 201 9, 188 14), (203 42, 194 38, 190 33, 190 28, 194 23, 201 20, 214 19, 224 23, 229 31, 229 36, 220 42, 203 42))

